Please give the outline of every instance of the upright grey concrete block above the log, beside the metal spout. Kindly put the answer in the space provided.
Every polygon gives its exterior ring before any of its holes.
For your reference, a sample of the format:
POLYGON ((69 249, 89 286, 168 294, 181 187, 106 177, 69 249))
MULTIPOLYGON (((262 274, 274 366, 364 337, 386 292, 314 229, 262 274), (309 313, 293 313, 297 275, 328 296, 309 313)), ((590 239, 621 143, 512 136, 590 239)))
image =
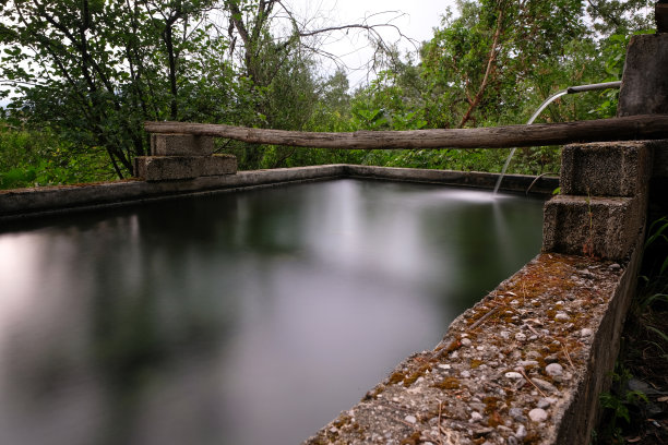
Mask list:
POLYGON ((631 37, 618 116, 668 113, 668 33, 631 37))

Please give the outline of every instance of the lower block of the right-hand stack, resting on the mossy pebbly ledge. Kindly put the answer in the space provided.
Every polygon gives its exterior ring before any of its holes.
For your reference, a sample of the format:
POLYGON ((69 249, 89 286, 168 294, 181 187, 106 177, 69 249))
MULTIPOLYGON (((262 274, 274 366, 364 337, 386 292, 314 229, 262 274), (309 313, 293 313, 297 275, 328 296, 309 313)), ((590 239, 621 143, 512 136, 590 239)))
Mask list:
POLYGON ((645 199, 559 195, 542 218, 542 251, 624 261, 645 220, 645 199))

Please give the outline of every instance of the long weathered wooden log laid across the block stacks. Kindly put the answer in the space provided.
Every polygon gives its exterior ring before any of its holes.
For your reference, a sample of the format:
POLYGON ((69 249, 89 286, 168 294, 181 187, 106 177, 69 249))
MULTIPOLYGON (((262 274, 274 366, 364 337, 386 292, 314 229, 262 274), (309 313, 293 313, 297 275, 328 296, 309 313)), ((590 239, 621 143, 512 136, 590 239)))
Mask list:
POLYGON ((478 129, 315 133, 212 123, 145 122, 150 133, 195 134, 312 148, 508 148, 574 142, 668 139, 668 115, 478 129))

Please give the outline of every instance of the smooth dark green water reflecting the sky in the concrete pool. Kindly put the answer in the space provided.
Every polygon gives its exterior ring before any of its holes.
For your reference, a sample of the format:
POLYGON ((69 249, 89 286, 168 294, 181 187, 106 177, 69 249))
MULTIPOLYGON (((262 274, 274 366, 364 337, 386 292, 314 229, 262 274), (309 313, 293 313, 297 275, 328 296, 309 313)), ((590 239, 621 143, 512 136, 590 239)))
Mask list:
POLYGON ((541 202, 339 180, 0 229, 0 444, 295 444, 538 253, 541 202))

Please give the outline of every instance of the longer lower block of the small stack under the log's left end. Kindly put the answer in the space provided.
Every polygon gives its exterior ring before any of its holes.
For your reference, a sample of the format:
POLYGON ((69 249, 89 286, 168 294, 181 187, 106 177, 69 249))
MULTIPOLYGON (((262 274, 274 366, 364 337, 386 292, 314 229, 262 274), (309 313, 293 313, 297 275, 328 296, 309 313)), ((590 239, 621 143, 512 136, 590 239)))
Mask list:
POLYGON ((193 179, 236 172, 237 158, 231 155, 141 156, 135 160, 135 176, 144 181, 193 179))

